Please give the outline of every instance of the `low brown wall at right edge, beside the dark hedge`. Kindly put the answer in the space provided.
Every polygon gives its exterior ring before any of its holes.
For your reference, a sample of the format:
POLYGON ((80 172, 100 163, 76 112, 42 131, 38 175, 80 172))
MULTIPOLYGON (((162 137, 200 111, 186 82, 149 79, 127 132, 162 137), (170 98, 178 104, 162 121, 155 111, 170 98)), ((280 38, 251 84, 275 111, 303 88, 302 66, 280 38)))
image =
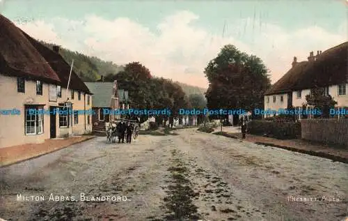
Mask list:
POLYGON ((303 119, 301 137, 315 142, 348 146, 348 119, 303 119))

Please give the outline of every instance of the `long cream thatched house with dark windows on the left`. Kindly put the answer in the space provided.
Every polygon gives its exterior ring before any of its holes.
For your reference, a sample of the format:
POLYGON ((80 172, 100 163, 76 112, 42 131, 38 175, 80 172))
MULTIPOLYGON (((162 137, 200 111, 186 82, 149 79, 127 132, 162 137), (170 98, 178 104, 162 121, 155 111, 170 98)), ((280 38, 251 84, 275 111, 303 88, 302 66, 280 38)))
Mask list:
POLYGON ((91 132, 91 93, 70 65, 0 15, 0 148, 91 132), (68 101, 68 102, 67 102, 68 101), (35 112, 35 114, 33 113, 35 112))

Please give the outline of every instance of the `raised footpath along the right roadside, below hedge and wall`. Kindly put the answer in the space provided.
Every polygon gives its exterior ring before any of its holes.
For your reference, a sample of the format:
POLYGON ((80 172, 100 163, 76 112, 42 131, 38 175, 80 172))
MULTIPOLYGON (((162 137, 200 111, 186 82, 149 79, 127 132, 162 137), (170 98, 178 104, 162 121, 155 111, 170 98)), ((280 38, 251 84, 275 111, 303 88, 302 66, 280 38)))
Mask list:
MULTIPOLYGON (((223 135, 235 139, 242 139, 240 132, 225 132, 223 135)), ((330 145, 315 144, 303 139, 274 139, 271 137, 262 137, 258 135, 246 135, 246 142, 253 142, 255 144, 262 144, 266 146, 274 146, 278 148, 287 149, 299 153, 306 153, 315 155, 330 160, 348 163, 348 148, 337 148, 330 145)))

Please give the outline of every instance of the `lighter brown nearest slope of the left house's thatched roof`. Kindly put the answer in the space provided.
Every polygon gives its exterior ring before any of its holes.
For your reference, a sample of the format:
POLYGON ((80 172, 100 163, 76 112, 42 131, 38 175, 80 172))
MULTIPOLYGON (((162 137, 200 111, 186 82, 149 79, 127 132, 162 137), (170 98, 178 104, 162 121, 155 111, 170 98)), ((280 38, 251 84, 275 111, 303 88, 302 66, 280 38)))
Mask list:
POLYGON ((58 83, 60 79, 22 31, 0 14, 0 73, 58 83))

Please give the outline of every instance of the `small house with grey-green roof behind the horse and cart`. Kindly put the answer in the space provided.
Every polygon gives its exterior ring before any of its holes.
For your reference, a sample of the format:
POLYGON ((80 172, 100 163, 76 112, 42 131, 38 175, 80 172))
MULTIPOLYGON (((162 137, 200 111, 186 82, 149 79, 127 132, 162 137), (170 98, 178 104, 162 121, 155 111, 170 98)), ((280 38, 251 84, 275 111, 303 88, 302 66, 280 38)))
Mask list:
POLYGON ((93 93, 94 115, 92 117, 93 130, 104 131, 105 122, 119 119, 117 114, 104 112, 104 109, 120 109, 120 100, 118 98, 117 82, 104 82, 103 76, 100 82, 85 82, 88 89, 93 93))

